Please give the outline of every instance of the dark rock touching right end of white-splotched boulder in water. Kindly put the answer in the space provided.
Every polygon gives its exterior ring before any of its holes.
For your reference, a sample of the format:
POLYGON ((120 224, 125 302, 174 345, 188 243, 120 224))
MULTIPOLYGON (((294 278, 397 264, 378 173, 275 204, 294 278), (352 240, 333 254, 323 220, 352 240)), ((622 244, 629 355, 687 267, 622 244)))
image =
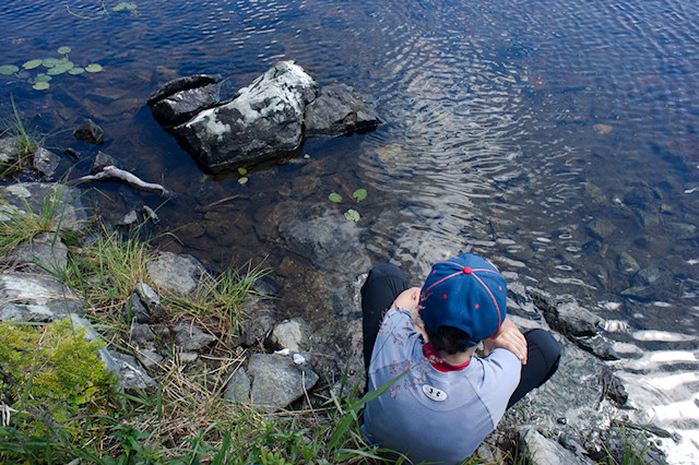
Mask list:
POLYGON ((380 123, 367 98, 345 84, 323 87, 306 107, 304 122, 306 135, 347 135, 371 131, 380 123))

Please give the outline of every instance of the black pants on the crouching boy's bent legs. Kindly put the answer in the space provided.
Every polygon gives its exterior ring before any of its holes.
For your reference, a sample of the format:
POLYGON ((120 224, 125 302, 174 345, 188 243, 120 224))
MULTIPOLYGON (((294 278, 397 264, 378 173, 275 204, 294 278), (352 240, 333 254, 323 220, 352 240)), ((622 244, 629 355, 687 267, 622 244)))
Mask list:
MULTIPOLYGON (((372 267, 362 286, 364 363, 367 371, 383 313, 405 289, 405 275, 401 269, 388 263, 372 267)), ((558 369, 560 347, 548 332, 531 330, 524 333, 524 337, 528 347, 526 365, 522 366, 520 383, 510 397, 508 408, 528 392, 544 384, 558 369)))

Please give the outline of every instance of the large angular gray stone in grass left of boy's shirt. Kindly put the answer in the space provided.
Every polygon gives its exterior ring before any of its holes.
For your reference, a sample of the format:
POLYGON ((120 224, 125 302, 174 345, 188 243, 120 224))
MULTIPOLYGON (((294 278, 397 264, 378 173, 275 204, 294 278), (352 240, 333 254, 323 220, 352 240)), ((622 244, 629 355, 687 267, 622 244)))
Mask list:
POLYGON ((286 407, 318 382, 312 370, 276 354, 253 354, 248 375, 252 378, 252 404, 269 413, 286 407))

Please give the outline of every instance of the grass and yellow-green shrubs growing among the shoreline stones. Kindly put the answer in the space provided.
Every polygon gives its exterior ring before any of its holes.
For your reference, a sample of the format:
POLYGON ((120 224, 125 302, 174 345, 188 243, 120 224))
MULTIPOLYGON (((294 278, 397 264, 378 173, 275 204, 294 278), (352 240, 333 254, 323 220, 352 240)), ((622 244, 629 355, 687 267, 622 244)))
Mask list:
MULTIPOLYGON (((26 169, 43 144, 24 128, 14 102, 13 111, 3 135, 11 135, 24 156, 4 176, 26 169)), ((70 318, 0 322, 0 464, 407 463, 368 444, 359 431, 364 404, 390 383, 362 396, 344 373, 339 390, 323 380, 275 413, 223 397, 232 373, 252 351, 263 350, 238 345, 236 336, 254 318, 251 302, 264 299, 254 283, 266 270, 226 270, 189 297, 159 291, 146 270, 157 250, 141 229, 111 230, 96 216, 70 224, 60 207, 62 184, 56 186, 36 212, 26 201, 16 207, 0 199, 0 274, 32 266, 19 264, 12 254, 35 238, 44 237, 52 252, 64 249, 64 265, 38 262, 34 270, 60 282, 66 301, 78 299, 99 335, 87 337, 87 330, 70 318), (137 349, 130 338, 130 298, 140 283, 161 294, 159 319, 200 325, 215 343, 198 365, 188 365, 171 347, 149 370, 154 389, 121 390, 99 350, 137 349)), ((488 453, 479 450, 479 457, 464 463, 532 463, 518 453, 513 431, 496 433, 486 440, 488 453)), ((638 445, 631 440, 621 460, 608 453, 603 463, 643 463, 633 453, 638 445)))

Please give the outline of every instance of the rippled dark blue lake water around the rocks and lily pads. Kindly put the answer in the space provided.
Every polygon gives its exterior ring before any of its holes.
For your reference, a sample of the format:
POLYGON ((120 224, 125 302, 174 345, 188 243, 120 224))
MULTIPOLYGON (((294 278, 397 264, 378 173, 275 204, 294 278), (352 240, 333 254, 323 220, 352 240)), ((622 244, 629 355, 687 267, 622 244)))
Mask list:
MULTIPOLYGON (((212 267, 271 267, 284 311, 319 327, 359 315, 352 296, 372 264, 398 263, 419 285, 433 262, 466 250, 577 299, 620 329, 611 337, 632 402, 692 461, 697 17, 699 3, 677 0, 10 0, 0 67, 68 57, 103 71, 54 75, 44 91, 32 87, 44 65, 0 75, 0 110, 11 115, 12 95, 37 130, 98 122, 103 151, 178 193, 158 210, 153 234, 177 236, 161 247, 212 267), (220 73, 236 90, 282 59, 370 95, 384 123, 309 140, 307 156, 240 184, 204 175, 144 105, 173 78, 220 73)), ((96 153, 70 132, 47 143, 81 152, 62 162, 71 176, 96 153)), ((102 190, 112 219, 162 203, 102 190)))

